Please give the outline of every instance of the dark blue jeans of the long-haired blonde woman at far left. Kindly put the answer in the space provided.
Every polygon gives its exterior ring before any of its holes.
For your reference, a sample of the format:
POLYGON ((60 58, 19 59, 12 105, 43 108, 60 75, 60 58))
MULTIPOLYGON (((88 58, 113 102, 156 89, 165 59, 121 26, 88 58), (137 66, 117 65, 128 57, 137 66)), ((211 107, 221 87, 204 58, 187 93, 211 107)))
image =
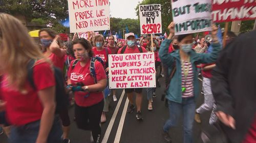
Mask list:
MULTIPOLYGON (((9 143, 35 143, 40 127, 40 120, 23 126, 12 126, 9 143)), ((52 129, 48 135, 47 143, 61 143, 62 129, 59 116, 53 121, 52 129)))

